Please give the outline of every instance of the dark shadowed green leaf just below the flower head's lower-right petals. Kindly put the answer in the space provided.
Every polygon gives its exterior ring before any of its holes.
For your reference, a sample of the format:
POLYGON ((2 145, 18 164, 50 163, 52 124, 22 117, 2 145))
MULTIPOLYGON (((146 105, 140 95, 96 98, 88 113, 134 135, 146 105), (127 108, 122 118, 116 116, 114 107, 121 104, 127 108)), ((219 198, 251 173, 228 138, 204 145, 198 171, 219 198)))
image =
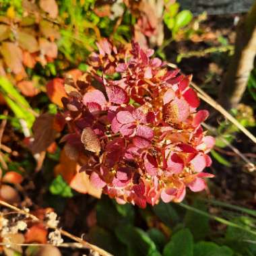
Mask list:
POLYGON ((177 224, 180 220, 179 214, 174 209, 172 203, 164 203, 160 201, 160 203, 153 207, 153 211, 167 226, 174 226, 174 224, 177 224))

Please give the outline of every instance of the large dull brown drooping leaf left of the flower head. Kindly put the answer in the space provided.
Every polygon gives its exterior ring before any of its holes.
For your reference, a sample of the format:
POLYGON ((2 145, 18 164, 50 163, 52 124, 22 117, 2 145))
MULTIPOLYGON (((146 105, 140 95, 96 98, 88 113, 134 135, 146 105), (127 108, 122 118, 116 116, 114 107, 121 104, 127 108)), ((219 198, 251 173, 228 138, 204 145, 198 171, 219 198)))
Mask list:
POLYGON ((34 141, 30 146, 30 150, 33 154, 45 151, 57 135, 57 131, 53 129, 55 116, 49 113, 40 115, 34 122, 32 131, 34 133, 34 141))

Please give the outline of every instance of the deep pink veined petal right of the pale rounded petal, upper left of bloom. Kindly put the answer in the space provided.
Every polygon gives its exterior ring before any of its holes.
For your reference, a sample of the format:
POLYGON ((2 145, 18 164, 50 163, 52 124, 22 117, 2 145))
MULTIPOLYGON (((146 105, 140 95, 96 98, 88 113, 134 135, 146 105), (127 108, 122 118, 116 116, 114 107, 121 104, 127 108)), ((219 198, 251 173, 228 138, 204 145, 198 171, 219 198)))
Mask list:
POLYGON ((129 102, 127 93, 119 86, 106 86, 106 94, 109 102, 123 104, 129 102))

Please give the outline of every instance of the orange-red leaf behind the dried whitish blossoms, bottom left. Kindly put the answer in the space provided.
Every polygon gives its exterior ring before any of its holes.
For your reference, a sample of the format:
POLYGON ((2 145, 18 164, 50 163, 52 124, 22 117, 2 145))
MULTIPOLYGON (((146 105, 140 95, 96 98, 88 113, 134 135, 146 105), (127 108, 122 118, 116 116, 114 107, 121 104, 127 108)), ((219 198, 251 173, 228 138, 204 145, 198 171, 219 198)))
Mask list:
POLYGON ((47 243, 48 231, 43 224, 34 224, 25 234, 25 243, 47 243))

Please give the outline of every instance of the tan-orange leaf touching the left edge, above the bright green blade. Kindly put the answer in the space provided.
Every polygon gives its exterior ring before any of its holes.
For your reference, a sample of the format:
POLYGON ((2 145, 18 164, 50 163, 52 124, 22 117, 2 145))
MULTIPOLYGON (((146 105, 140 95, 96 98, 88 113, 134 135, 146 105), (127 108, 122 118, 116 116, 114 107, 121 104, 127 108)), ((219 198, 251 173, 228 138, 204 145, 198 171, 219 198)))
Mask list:
POLYGON ((22 65, 22 50, 13 42, 3 42, 0 47, 1 55, 5 60, 6 65, 15 73, 26 77, 25 69, 22 65))

